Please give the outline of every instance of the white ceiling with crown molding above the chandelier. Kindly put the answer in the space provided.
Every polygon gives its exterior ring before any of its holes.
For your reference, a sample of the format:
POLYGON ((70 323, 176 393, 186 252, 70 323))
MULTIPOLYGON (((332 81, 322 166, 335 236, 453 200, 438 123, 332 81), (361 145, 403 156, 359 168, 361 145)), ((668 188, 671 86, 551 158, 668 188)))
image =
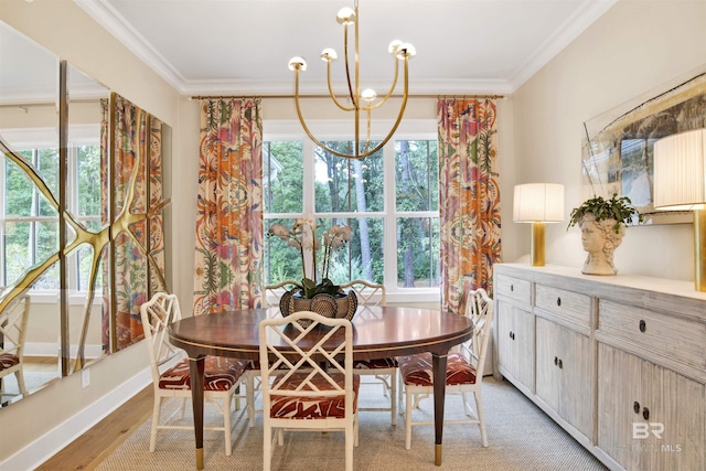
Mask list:
MULTIPOLYGON (((308 60, 301 92, 325 93, 324 47, 343 84, 335 15, 354 0, 75 1, 183 95, 291 94, 292 56, 308 60)), ((413 94, 510 94, 614 2, 360 0, 361 88, 389 88, 398 39, 417 51, 413 94)))

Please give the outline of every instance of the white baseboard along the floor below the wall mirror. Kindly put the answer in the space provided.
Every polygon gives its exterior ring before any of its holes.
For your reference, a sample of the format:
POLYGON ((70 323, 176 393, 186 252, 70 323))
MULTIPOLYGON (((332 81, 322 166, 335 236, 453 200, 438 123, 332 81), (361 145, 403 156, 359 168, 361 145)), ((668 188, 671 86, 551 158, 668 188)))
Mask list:
POLYGON ((151 382, 150 368, 147 367, 100 399, 86 406, 60 426, 38 437, 32 443, 0 462, 0 470, 35 469, 66 448, 67 445, 107 417, 151 382))

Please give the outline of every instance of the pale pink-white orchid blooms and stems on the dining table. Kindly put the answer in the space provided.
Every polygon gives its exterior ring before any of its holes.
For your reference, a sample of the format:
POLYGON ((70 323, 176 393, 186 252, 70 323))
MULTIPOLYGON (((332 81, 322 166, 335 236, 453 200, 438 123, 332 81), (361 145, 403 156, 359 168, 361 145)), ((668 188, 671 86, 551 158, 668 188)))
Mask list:
POLYGON ((272 224, 268 232, 268 236, 279 237, 290 247, 299 250, 301 257, 301 285, 303 289, 301 295, 311 299, 321 292, 328 295, 336 295, 341 291, 341 287, 333 285, 329 279, 329 268, 331 266, 331 256, 334 251, 343 248, 351 240, 351 227, 336 224, 325 231, 321 237, 321 242, 317 238, 317 227, 310 220, 298 218, 288 228, 281 224, 272 224), (317 253, 323 247, 323 264, 321 266, 321 282, 317 278, 317 253), (312 276, 307 276, 307 264, 304 253, 311 251, 313 256, 312 276))

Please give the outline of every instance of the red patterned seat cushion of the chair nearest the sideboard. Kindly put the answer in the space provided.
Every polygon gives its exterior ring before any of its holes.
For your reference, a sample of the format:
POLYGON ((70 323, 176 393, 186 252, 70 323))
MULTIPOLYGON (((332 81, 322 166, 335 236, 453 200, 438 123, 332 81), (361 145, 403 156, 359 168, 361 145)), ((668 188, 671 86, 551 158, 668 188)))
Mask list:
MULTIPOLYGON (((432 386, 431 353, 399 356, 399 373, 405 384, 432 386)), ((446 365, 446 384, 474 384, 475 367, 459 353, 449 353, 446 365)))

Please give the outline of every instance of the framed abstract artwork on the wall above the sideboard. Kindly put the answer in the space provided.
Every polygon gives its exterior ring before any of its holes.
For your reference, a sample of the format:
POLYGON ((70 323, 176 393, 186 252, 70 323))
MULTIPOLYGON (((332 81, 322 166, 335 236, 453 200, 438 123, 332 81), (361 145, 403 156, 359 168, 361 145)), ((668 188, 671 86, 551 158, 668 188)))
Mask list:
POLYGON ((584 199, 630 197, 644 224, 691 223, 691 211, 655 211, 653 148, 667 136, 706 127, 706 66, 585 122, 584 199))

